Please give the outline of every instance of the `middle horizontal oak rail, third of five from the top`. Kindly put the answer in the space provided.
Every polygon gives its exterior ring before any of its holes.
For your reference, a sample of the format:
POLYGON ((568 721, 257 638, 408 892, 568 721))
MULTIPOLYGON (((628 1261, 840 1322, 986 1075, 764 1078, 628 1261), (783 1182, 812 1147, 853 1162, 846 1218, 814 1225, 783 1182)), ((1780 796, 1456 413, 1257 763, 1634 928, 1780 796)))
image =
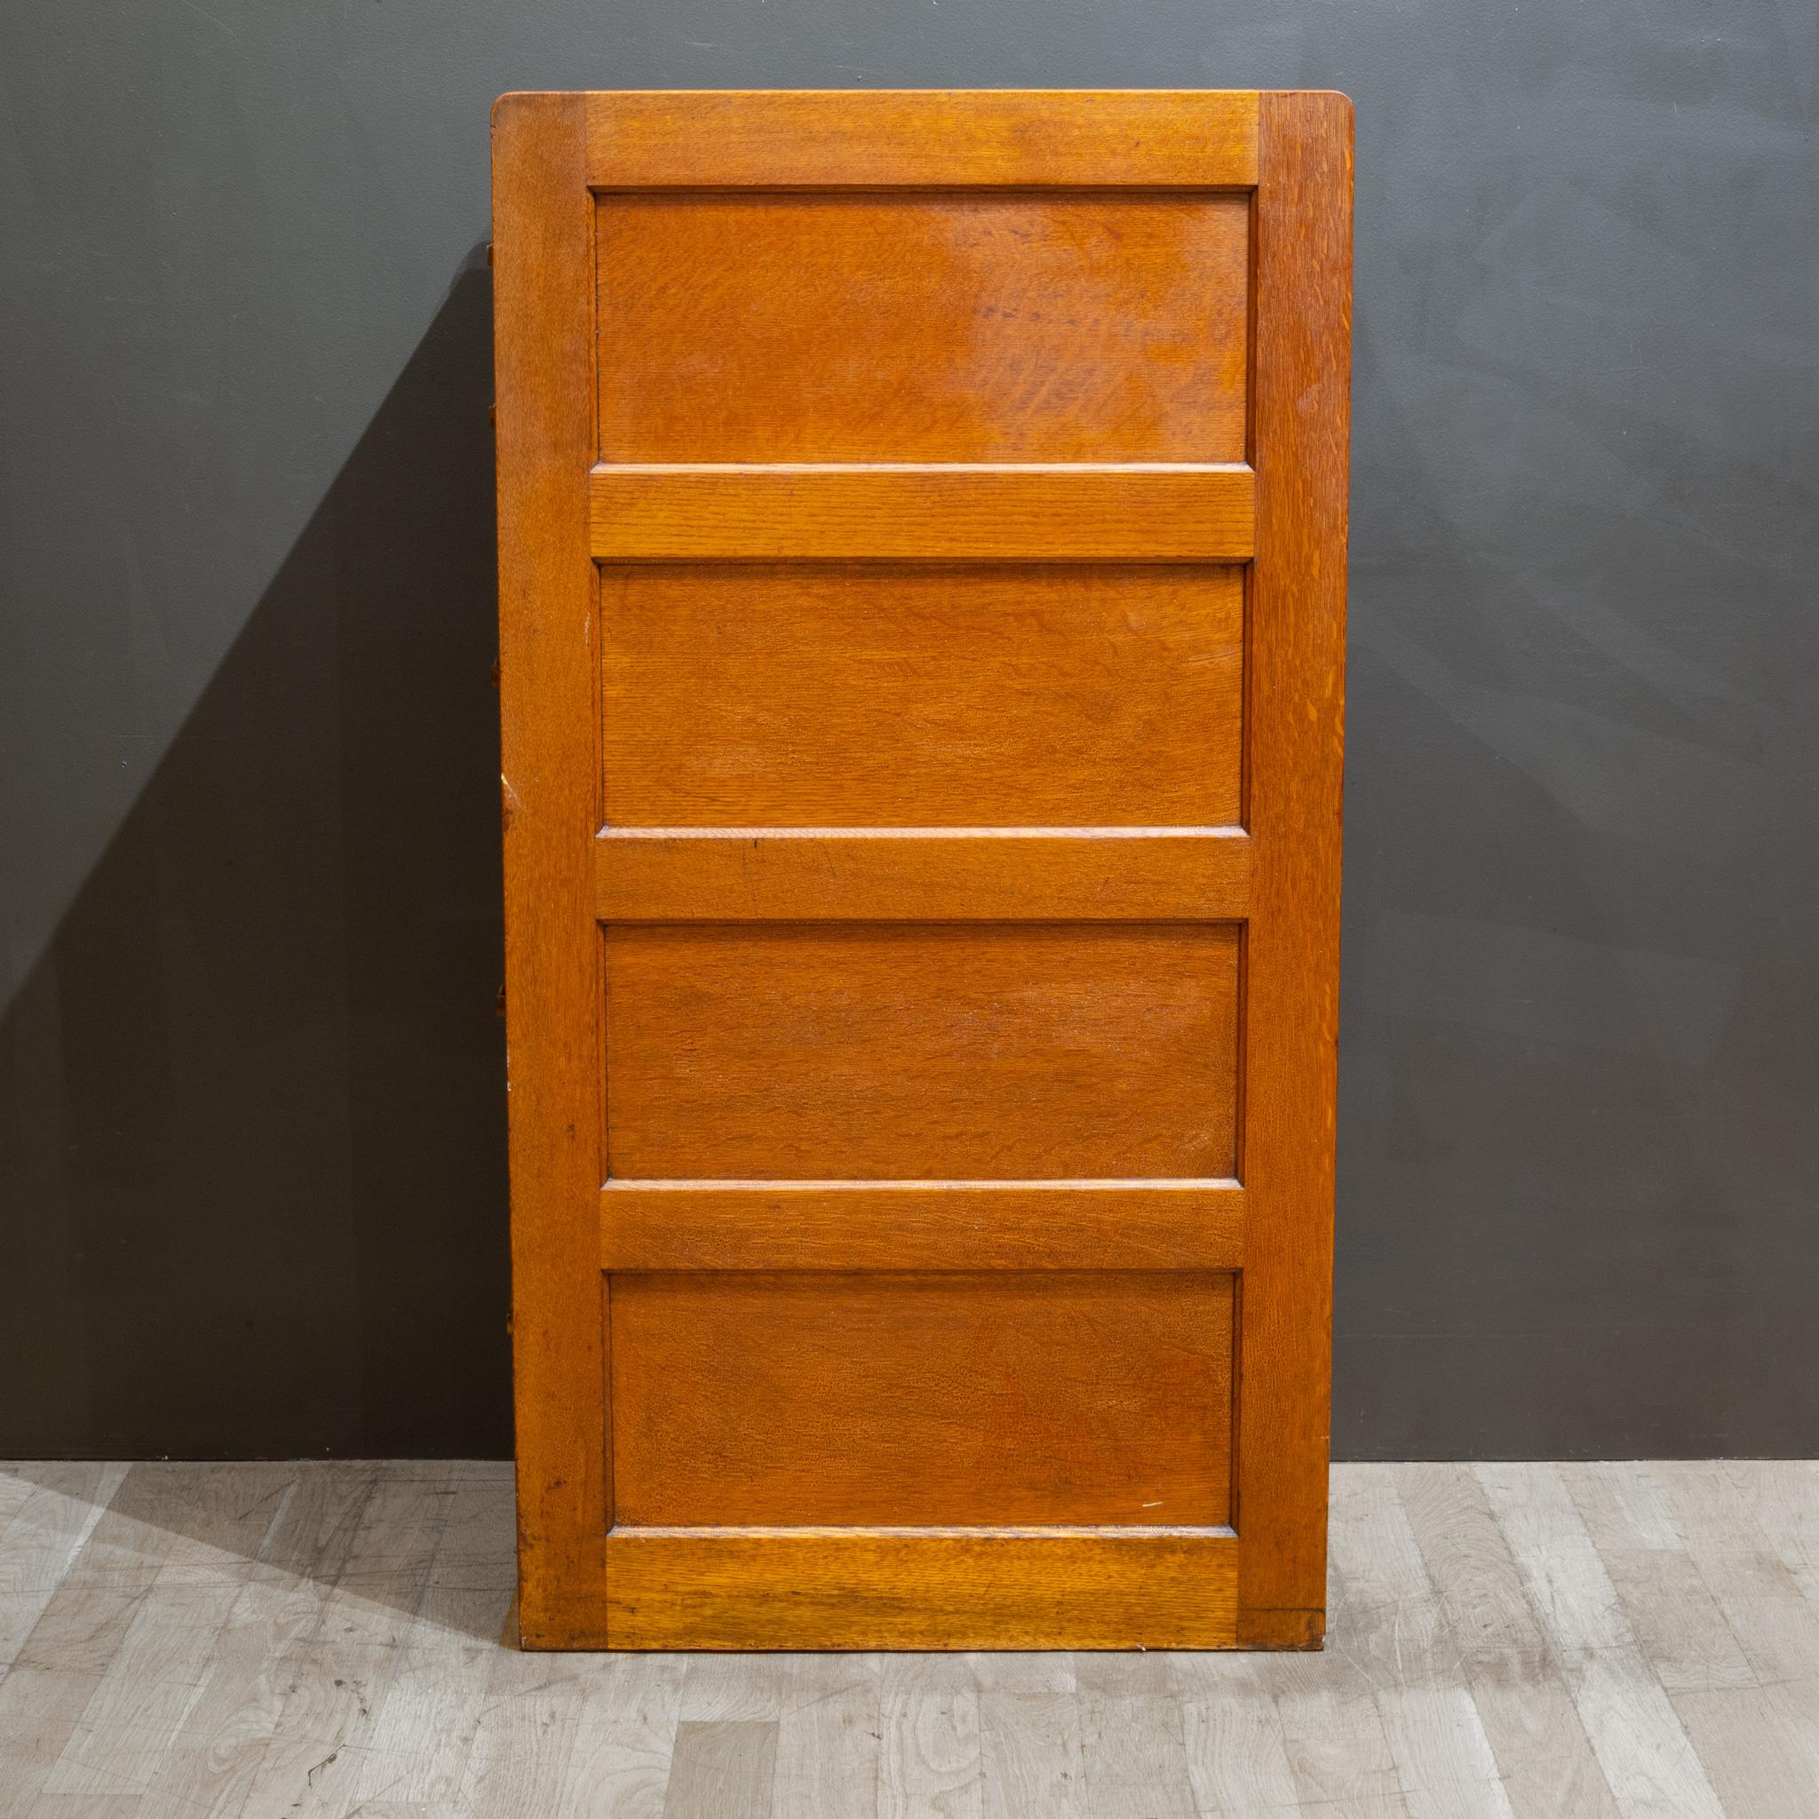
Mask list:
POLYGON ((609 828, 602 922, 1242 922, 1237 828, 609 828))

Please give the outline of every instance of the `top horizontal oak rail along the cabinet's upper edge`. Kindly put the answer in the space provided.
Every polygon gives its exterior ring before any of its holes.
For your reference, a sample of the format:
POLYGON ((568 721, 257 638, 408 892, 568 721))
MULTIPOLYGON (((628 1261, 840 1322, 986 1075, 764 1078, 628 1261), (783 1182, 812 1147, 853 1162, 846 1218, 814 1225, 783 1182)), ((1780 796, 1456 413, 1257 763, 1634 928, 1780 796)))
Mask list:
POLYGON ((1206 89, 817 89, 588 96, 595 189, 1235 187, 1257 96, 1206 89))

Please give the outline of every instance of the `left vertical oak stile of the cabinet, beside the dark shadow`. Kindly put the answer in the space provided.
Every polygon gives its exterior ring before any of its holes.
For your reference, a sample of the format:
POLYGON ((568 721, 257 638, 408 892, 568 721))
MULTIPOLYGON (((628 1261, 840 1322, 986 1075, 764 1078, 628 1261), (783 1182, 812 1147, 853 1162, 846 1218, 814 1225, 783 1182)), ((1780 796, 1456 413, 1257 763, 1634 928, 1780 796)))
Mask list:
POLYGON ((598 1575, 611 1508, 597 1213, 598 649, 580 484, 595 442, 591 226, 582 98, 502 100, 493 335, 506 1046, 518 1621, 533 1643, 566 1633, 569 1588, 598 1575))

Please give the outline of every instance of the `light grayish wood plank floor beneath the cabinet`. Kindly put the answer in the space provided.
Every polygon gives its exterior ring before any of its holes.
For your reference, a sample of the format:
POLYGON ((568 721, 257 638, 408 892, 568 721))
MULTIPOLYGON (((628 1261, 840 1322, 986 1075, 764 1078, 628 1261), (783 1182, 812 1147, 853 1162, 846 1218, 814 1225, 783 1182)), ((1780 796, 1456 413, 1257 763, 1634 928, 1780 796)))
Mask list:
POLYGON ((497 1464, 0 1470, 0 1814, 1819 1815, 1819 1466, 1341 1466, 1324 1655, 520 1655, 497 1464))

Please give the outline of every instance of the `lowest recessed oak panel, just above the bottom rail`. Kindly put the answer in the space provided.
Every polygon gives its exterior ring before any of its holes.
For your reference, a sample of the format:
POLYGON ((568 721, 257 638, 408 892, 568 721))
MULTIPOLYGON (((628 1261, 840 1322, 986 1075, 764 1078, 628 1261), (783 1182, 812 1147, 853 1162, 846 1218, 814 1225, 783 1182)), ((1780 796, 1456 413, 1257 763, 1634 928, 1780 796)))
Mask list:
POLYGON ((1213 1526, 1231 1277, 622 1275, 631 1524, 1213 1526))

